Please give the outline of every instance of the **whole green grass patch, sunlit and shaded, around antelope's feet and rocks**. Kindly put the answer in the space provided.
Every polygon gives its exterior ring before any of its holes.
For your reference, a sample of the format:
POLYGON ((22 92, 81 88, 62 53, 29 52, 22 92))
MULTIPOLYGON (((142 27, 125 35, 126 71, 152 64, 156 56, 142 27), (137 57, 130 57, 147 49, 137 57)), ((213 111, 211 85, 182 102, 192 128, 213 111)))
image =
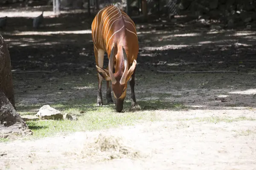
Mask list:
MULTIPOLYGON (((67 134, 76 131, 101 130, 122 125, 134 125, 136 122, 157 120, 155 110, 183 110, 186 106, 180 103, 170 103, 162 100, 138 101, 138 109, 131 110, 129 99, 124 102, 122 113, 117 113, 114 104, 96 106, 96 96, 92 95, 83 99, 70 100, 65 103, 50 105, 62 113, 77 116, 77 121, 70 120, 38 120, 28 121, 26 124, 33 131, 33 137, 54 136, 56 134, 67 134)), ((105 102, 105 101, 104 101, 105 102)), ((20 114, 35 114, 41 105, 18 106, 20 114)))

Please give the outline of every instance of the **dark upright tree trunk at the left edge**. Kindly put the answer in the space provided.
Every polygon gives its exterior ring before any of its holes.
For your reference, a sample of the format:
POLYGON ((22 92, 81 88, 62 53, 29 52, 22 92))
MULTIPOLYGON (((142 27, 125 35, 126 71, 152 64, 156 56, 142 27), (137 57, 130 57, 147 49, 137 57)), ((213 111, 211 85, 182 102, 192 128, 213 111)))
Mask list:
POLYGON ((10 54, 6 43, 3 40, 2 35, 0 34, 0 91, 2 91, 6 95, 9 101, 12 103, 12 106, 15 108, 11 71, 10 54))

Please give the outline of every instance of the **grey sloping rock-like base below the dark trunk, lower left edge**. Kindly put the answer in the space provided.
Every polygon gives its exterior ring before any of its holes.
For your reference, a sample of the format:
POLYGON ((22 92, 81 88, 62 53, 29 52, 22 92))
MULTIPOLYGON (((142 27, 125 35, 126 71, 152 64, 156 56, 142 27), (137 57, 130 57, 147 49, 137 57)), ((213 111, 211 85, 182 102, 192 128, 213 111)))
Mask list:
POLYGON ((5 94, 0 91, 0 138, 32 135, 32 131, 15 111, 5 94))

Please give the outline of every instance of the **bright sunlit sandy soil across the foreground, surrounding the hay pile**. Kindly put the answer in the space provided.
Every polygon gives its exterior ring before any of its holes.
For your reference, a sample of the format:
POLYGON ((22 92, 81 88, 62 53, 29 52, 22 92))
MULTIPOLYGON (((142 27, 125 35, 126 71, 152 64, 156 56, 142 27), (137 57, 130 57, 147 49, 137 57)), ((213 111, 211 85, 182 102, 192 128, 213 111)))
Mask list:
MULTIPOLYGON (((197 110, 187 111, 196 115, 197 110)), ((215 111, 214 113, 223 113, 215 111)), ((232 114, 233 111, 225 111, 232 114)), ((244 112, 244 111, 240 111, 244 112)), ((165 112, 172 119, 180 117, 180 112, 165 112)), ((162 117, 162 112, 157 116, 162 117)), ((205 110, 204 116, 211 116, 205 110)), ((255 113, 247 111, 246 116, 255 118, 255 113)), ((94 132, 78 132, 70 136, 58 136, 35 141, 16 141, 1 144, 1 167, 4 169, 256 169, 256 123, 239 122, 197 122, 163 121, 142 123, 133 127, 94 132), (249 131, 248 131, 249 130, 249 131), (122 137, 127 145, 140 151, 136 159, 113 159, 97 161, 85 156, 87 145, 99 133, 122 137), (82 152, 83 151, 83 152, 82 152)), ((96 159, 96 160, 95 160, 96 159)))

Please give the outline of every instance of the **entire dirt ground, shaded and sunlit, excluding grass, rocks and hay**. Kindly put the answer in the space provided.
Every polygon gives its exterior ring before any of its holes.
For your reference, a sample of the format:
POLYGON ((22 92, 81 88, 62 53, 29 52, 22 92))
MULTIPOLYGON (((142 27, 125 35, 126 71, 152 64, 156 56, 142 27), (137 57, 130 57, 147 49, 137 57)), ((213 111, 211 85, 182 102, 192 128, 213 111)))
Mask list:
MULTIPOLYGON (((34 31, 29 17, 40 10, 33 10, 27 14, 3 9, 0 14, 11 17, 1 34, 9 46, 13 71, 58 71, 14 73, 18 111, 23 105, 69 102, 90 94, 96 101, 93 17, 81 10, 59 17, 46 11, 45 26, 34 31)), ((0 143, 0 169, 255 170, 256 32, 210 30, 186 20, 180 16, 172 25, 137 23, 137 100, 148 102, 157 121, 0 143), (239 73, 160 74, 155 69, 239 73), (158 99, 165 101, 161 107, 151 106, 158 99), (172 102, 189 109, 165 107, 172 102), (122 137, 140 156, 105 161, 87 157, 87 144, 100 133, 122 137)), ((105 90, 103 85, 104 98, 105 90)))

